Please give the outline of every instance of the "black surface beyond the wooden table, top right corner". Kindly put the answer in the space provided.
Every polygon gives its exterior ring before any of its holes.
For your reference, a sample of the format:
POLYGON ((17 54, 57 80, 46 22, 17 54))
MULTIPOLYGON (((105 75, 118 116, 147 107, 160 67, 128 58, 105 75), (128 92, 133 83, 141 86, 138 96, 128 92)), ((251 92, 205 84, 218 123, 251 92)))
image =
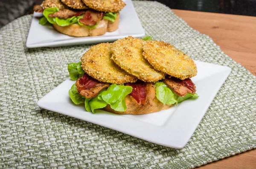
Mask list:
POLYGON ((156 0, 172 9, 256 16, 256 0, 156 0))

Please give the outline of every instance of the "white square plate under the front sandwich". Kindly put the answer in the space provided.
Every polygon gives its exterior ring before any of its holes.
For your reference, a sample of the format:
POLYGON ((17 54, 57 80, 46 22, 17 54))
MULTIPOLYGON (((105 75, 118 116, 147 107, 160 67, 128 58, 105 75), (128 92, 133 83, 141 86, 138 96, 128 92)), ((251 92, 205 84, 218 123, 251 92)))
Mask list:
POLYGON ((68 90, 75 83, 67 79, 38 101, 47 110, 80 118, 94 124, 124 132, 163 146, 183 148, 206 113, 216 93, 227 79, 231 68, 195 61, 198 74, 192 78, 198 99, 188 99, 168 110, 145 115, 117 115, 103 110, 86 112, 84 105, 75 105, 68 90))

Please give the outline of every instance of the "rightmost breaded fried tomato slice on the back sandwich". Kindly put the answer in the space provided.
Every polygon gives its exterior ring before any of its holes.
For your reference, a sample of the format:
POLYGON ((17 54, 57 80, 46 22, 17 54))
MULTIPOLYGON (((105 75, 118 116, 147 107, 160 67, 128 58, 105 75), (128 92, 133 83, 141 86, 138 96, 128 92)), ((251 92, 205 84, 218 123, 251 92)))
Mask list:
POLYGON ((86 6, 96 11, 119 12, 125 7, 122 0, 82 0, 86 6))

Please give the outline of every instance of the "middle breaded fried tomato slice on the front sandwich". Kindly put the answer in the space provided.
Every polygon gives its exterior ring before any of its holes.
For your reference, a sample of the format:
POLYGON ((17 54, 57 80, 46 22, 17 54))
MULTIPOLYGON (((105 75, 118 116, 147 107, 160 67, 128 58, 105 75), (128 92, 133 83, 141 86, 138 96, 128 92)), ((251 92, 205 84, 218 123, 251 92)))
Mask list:
POLYGON ((164 78, 164 73, 154 68, 143 57, 143 41, 139 38, 126 37, 118 39, 112 45, 113 61, 123 70, 144 82, 157 82, 164 78))

